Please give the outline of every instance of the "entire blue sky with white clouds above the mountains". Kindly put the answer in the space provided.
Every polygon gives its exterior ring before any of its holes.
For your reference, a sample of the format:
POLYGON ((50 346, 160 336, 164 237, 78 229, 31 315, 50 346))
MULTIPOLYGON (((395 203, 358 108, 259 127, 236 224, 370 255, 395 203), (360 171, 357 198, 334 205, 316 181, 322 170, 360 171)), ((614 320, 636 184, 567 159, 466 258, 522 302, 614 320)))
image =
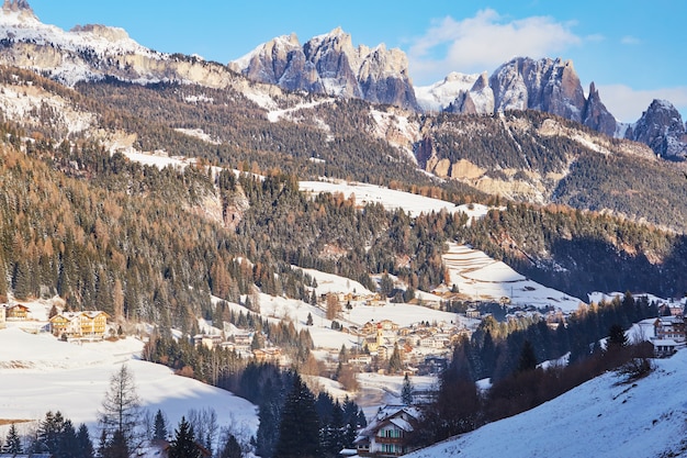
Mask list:
POLYGON ((654 98, 687 114, 687 1, 616 0, 30 0, 36 15, 69 30, 120 26, 144 46, 223 64, 278 35, 301 43, 337 26, 354 45, 399 47, 417 86, 450 71, 492 72, 514 56, 572 59, 620 121, 654 98))

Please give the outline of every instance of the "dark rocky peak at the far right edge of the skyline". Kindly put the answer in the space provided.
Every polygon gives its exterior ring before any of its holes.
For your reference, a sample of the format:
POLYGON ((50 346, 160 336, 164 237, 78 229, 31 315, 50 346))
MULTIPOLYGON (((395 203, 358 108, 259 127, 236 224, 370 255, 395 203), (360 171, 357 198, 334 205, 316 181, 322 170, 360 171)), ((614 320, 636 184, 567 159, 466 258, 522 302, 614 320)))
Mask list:
POLYGON ((687 158, 687 131, 683 118, 666 100, 654 100, 642 118, 626 132, 626 138, 641 142, 658 156, 687 158))

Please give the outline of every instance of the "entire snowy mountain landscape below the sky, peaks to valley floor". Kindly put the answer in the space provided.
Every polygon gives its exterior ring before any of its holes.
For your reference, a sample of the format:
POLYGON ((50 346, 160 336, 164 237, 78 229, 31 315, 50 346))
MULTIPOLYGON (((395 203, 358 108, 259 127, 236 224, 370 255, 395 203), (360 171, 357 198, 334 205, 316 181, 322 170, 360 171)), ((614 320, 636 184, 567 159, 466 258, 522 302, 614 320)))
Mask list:
POLYGON ((687 457, 679 112, 407 65, 4 0, 0 458, 687 457))

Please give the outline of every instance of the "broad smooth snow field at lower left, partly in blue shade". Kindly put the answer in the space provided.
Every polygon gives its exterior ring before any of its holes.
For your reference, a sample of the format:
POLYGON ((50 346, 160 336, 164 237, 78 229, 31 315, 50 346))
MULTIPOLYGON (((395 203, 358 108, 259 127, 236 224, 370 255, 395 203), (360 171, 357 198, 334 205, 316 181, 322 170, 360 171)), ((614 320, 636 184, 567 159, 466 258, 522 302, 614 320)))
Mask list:
MULTIPOLYGON (((77 345, 50 334, 30 334, 13 323, 0 329, 0 420, 35 421, 60 411, 76 425, 97 432, 98 411, 110 379, 126 364, 143 406, 161 410, 176 427, 190 410, 214 410, 221 426, 248 436, 256 433, 255 405, 234 394, 176 376, 164 366, 142 361, 143 343, 134 337, 77 345)), ((18 424, 18 429, 30 424, 18 424)), ((94 434, 92 434, 93 437, 94 434)))

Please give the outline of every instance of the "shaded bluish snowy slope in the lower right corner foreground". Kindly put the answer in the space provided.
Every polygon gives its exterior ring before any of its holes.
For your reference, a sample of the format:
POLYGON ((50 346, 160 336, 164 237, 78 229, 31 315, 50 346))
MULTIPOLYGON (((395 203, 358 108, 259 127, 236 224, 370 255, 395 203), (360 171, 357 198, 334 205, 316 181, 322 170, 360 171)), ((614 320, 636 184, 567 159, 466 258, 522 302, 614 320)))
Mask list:
POLYGON ((687 350, 635 383, 607 373, 529 412, 408 458, 687 457, 687 350))

